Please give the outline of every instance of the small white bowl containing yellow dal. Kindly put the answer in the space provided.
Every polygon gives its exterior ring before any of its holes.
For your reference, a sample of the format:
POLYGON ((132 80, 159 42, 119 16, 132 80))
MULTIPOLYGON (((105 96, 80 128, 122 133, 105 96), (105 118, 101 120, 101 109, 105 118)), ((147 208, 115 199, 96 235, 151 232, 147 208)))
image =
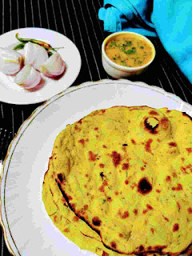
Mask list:
POLYGON ((130 76, 133 76, 136 74, 141 74, 144 70, 146 70, 146 68, 148 66, 150 66, 150 63, 153 62, 154 57, 155 57, 155 49, 154 49, 153 43, 150 42, 150 40, 148 38, 146 38, 145 36, 143 36, 142 34, 128 32, 128 31, 116 32, 116 33, 110 34, 102 42, 102 66, 103 66, 104 70, 106 70, 106 73, 109 74, 112 78, 126 78, 126 77, 130 77, 130 76), (146 42, 148 42, 148 44, 150 44, 150 46, 153 50, 153 55, 152 55, 152 58, 150 59, 150 62, 147 62, 146 65, 137 66, 137 67, 121 66, 121 65, 118 65, 118 64, 112 62, 110 60, 110 58, 108 58, 106 55, 106 51, 105 51, 106 43, 111 38, 113 38, 114 36, 117 36, 118 34, 135 34, 135 36, 137 38, 142 38, 142 40, 144 39, 146 42))

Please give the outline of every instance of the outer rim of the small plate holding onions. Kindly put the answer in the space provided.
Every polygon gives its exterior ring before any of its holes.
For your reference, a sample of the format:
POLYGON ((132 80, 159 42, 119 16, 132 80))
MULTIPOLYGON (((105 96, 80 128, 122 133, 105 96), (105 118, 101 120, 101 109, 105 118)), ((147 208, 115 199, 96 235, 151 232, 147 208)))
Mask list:
MULTIPOLYGON (((81 54, 80 54, 80 51, 78 50, 78 47, 76 46, 76 44, 70 39, 70 38, 68 38, 65 34, 62 34, 62 33, 60 33, 60 32, 58 32, 58 31, 56 31, 56 30, 51 30, 51 29, 47 29, 47 28, 43 28, 43 27, 36 27, 36 26, 29 26, 29 27, 21 27, 21 28, 18 28, 18 29, 14 29, 14 30, 10 30, 10 31, 7 31, 6 33, 4 33, 4 34, 1 34, 0 35, 0 38, 2 38, 2 37, 6 37, 6 36, 9 36, 9 34, 14 34, 14 33, 16 33, 16 32, 21 32, 22 33, 22 31, 27 31, 27 30, 43 30, 43 31, 46 31, 46 33, 56 33, 56 34, 58 34, 58 36, 62 36, 63 38, 65 38, 66 40, 68 40, 73 46, 74 46, 74 48, 77 50, 77 53, 78 53, 78 55, 77 55, 77 58, 78 58, 78 60, 79 60, 79 65, 78 65, 78 71, 77 71, 77 74, 74 76, 74 79, 72 79, 71 80, 71 82, 70 82, 70 84, 68 85, 68 86, 66 86, 66 88, 64 88, 64 89, 62 89, 61 90, 61 92, 62 91, 64 91, 64 90, 67 90, 70 86, 72 86, 73 85, 73 83, 75 82, 75 80, 78 78, 78 74, 80 73, 80 71, 81 71, 81 68, 82 68, 82 57, 81 57, 81 54)), ((32 37, 33 38, 33 37, 32 37)), ((43 40, 43 38, 38 38, 38 39, 41 39, 41 40, 43 40)), ((49 39, 49 38, 48 38, 49 39)), ((45 39, 44 39, 45 40, 45 39)), ((3 73, 2 73, 2 75, 4 75, 3 73)), ((38 92, 38 90, 37 90, 37 92, 38 92)), ((33 93, 33 92, 32 92, 33 93)), ((59 92, 60 93, 60 92, 59 92)), ((4 100, 4 98, 1 98, 0 100, 2 101, 2 102, 4 102, 4 103, 8 103, 8 104, 14 104, 14 105, 24 105, 24 106, 26 106, 26 105, 31 105, 31 104, 37 104, 37 103, 42 103, 42 102, 46 102, 47 100, 49 100, 50 98, 52 98, 54 95, 57 95, 58 94, 58 92, 55 92, 54 94, 52 94, 50 97, 40 97, 40 98, 38 98, 38 97, 36 97, 36 99, 34 98, 34 99, 32 99, 32 100, 30 100, 30 102, 25 102, 25 101, 21 101, 21 100, 19 100, 19 99, 17 99, 17 100, 4 100)))

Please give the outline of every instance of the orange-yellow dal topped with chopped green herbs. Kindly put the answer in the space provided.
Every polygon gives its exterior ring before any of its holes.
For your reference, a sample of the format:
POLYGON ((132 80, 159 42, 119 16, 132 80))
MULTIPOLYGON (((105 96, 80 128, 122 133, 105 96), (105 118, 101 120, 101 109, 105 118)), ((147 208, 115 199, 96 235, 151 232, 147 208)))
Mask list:
POLYGON ((146 65, 153 57, 150 44, 134 34, 120 34, 110 39, 105 50, 112 62, 127 67, 146 65))

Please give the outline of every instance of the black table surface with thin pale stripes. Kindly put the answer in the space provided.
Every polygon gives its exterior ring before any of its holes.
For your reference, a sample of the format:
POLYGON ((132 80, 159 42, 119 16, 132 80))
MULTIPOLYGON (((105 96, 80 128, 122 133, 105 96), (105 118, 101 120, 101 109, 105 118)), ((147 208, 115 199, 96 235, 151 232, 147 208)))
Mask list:
MULTIPOLYGON (((82 82, 110 78, 102 67, 102 41, 109 33, 103 31, 98 10, 103 0, 2 0, 0 34, 22 27, 42 27, 58 31, 70 38, 82 57, 82 68, 72 86, 82 82)), ((158 38, 150 38, 156 48, 154 63, 131 81, 159 86, 192 104, 192 86, 167 54, 158 38)), ((1 93, 1 91, 0 91, 1 93)), ((42 104, 14 105, 0 102, 0 160, 22 122, 42 104)), ((2 235, 2 232, 1 232, 2 235)), ((10 255, 2 236, 1 255, 10 255)))

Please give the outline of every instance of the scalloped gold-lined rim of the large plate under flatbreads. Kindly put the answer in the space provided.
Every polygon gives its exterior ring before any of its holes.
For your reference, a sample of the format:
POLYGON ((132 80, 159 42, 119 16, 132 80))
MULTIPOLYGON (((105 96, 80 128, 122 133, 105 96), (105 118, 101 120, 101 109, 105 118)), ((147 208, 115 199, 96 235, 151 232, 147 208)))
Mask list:
MULTIPOLYGON (((162 93, 164 94, 166 97, 172 98, 174 99, 174 101, 178 102, 181 104, 181 106, 186 106, 186 108, 188 110, 190 110, 190 117, 192 117, 192 106, 187 103, 184 102, 181 98, 179 98, 177 95, 166 92, 166 90, 158 87, 158 86, 150 86, 147 85, 146 82, 132 82, 130 80, 127 79, 118 79, 118 80, 112 80, 112 79, 102 79, 102 80, 98 80, 98 81, 90 81, 90 82, 83 82, 82 84, 79 84, 78 86, 71 86, 66 90, 63 90, 62 92, 60 92, 59 94, 54 95, 53 97, 49 98, 48 100, 46 100, 46 102, 43 102, 41 106, 38 106, 31 114, 28 118, 26 118, 26 120, 22 123, 22 125, 19 127, 17 134, 14 135, 14 138, 12 139, 12 141, 10 142, 10 145, 8 147, 8 150, 6 152, 6 158, 3 161, 2 164, 2 170, 0 172, 0 225, 2 226, 2 232, 3 232, 3 236, 4 236, 4 240, 6 242, 6 246, 8 248, 8 250, 10 251, 10 254, 16 255, 14 253, 14 249, 10 246, 10 239, 12 239, 12 243, 14 242, 14 239, 11 236, 11 232, 10 230, 6 230, 6 225, 5 225, 5 221, 6 221, 6 217, 3 216, 2 211, 3 211, 3 206, 4 204, 2 204, 2 199, 5 198, 5 193, 2 192, 2 190, 5 189, 5 183, 4 182, 2 184, 2 180, 5 179, 5 175, 7 174, 8 171, 8 167, 9 167, 9 163, 10 163, 10 154, 14 154, 14 149, 17 146, 17 143, 19 141, 19 138, 21 138, 22 134, 25 132, 25 130, 27 129, 28 125, 30 124, 30 122, 32 122, 34 120, 34 118, 40 113, 42 112, 42 110, 44 110, 46 108, 46 106, 49 106, 52 102, 56 101, 58 98, 63 97, 66 94, 70 94, 73 93, 76 90, 81 90, 84 89, 86 87, 90 87, 90 86, 98 86, 100 83, 113 83, 113 84, 118 84, 118 83, 126 83, 127 86, 129 85, 134 85, 134 86, 141 86, 150 90, 154 90, 158 93, 162 93), (2 186, 3 185, 3 186, 2 186), (3 220, 4 219, 4 220, 3 220), (10 233, 9 235, 7 233, 10 233), (10 237, 9 237, 10 236, 10 237)), ((16 246, 16 245, 15 245, 16 246)), ((17 247, 17 246, 16 246, 17 247)), ((21 255, 18 251, 17 255, 21 255)))

